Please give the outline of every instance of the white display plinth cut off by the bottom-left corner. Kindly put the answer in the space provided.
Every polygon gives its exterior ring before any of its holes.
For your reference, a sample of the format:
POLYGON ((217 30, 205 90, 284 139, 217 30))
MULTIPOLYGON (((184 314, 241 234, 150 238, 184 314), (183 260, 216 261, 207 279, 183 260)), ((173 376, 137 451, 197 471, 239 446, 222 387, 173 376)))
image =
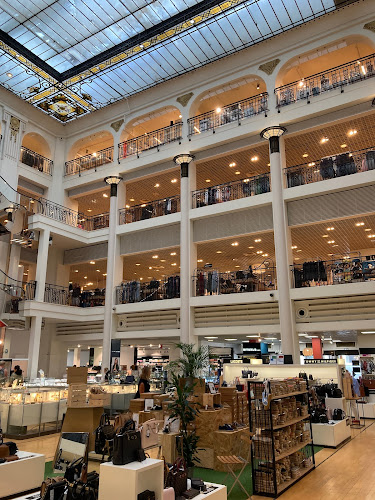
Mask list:
POLYGON ((40 488, 44 479, 44 455, 27 451, 17 455, 22 460, 0 464, 0 498, 40 488))

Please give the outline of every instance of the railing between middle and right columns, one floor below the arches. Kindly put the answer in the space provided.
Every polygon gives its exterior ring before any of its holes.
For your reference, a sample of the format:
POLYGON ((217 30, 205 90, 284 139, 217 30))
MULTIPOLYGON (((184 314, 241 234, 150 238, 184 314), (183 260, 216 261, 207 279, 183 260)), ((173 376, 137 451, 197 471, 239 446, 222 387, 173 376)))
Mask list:
POLYGON ((249 196, 270 192, 269 174, 256 175, 247 179, 227 182, 217 186, 193 191, 193 208, 216 205, 226 201, 239 200, 249 196))

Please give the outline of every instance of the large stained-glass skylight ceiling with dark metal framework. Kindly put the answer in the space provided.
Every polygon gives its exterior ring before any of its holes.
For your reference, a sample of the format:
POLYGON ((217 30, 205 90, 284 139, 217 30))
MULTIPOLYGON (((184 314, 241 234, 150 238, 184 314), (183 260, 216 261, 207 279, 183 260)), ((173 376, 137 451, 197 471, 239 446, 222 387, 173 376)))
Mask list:
POLYGON ((0 84, 67 122, 354 1, 4 0, 0 84))

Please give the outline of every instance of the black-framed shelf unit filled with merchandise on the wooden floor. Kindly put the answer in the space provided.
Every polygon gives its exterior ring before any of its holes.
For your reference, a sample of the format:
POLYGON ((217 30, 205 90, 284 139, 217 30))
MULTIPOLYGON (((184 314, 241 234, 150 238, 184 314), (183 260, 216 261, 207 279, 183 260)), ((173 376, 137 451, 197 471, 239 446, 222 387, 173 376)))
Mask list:
POLYGON ((277 498, 315 468, 307 382, 248 381, 253 493, 277 498))

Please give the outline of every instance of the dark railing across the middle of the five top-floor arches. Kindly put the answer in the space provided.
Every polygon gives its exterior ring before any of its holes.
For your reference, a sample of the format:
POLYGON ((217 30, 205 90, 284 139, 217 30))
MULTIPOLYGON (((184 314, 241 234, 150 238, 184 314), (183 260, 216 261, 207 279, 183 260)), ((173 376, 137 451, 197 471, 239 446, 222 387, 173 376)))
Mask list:
POLYGON ((168 127, 159 128, 152 132, 147 132, 133 139, 121 142, 118 145, 118 157, 122 160, 131 155, 139 156, 142 151, 159 147, 163 144, 169 144, 182 139, 182 122, 168 125, 168 127))

